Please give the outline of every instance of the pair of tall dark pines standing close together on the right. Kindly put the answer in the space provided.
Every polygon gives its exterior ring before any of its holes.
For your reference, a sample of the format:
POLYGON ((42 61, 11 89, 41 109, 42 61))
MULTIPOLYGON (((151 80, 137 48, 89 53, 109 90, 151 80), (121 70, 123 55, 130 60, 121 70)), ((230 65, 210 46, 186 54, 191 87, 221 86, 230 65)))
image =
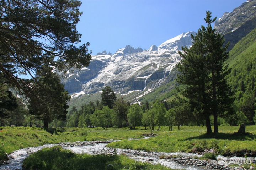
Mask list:
POLYGON ((228 66, 224 66, 228 45, 223 47, 223 36, 212 28, 215 20, 207 11, 207 27, 202 26, 196 36, 191 35, 193 46, 182 48, 183 60, 177 65, 181 72, 178 82, 187 85, 185 96, 190 99, 194 111, 206 120, 207 133, 212 132, 209 116, 213 114, 214 133, 218 133, 218 115, 232 114, 229 110, 233 103, 233 93, 225 79, 229 73, 228 66))

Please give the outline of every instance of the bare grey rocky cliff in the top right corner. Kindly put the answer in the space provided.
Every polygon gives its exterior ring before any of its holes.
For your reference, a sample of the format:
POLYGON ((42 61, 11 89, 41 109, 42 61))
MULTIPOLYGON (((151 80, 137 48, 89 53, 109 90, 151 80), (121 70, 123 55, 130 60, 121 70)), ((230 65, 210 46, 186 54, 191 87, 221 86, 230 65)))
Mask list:
POLYGON ((228 50, 256 28, 256 0, 243 3, 232 12, 225 12, 215 22, 215 29, 224 35, 226 43, 230 42, 228 50))

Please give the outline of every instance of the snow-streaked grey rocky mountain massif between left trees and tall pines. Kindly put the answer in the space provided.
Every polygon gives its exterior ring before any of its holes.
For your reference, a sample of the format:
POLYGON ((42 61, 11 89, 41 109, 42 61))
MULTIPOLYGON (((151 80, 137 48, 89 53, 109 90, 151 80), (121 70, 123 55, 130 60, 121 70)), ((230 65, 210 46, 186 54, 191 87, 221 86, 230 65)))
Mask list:
POLYGON ((192 45, 191 34, 195 33, 183 33, 145 51, 127 45, 113 55, 106 51, 98 53, 92 56, 88 67, 64 75, 65 89, 75 98, 110 86, 121 95, 137 92, 139 99, 169 80, 172 69, 181 60, 178 51, 182 46, 192 45))

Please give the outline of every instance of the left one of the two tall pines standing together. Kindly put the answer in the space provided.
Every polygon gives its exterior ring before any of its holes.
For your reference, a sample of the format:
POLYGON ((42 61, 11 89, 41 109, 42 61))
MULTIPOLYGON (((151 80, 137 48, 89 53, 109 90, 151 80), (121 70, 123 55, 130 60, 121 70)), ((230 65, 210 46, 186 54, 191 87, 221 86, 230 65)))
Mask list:
POLYGON ((186 89, 183 95, 189 99, 190 105, 198 117, 202 117, 206 121, 207 133, 212 133, 210 125, 210 96, 207 94, 207 86, 209 82, 209 71, 204 63, 206 63, 206 49, 203 44, 203 33, 199 29, 196 36, 191 35, 193 45, 191 48, 182 48, 180 55, 183 57, 181 62, 177 64, 180 71, 177 81, 185 84, 186 89))

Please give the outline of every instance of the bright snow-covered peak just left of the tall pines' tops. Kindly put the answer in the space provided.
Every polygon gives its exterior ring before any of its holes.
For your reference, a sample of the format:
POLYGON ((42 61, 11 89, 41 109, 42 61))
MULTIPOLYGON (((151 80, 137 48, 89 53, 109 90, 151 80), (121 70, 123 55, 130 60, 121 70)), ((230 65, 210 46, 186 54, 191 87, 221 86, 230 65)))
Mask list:
POLYGON ((159 45, 158 50, 181 50, 182 46, 191 46, 192 39, 191 34, 195 35, 195 32, 182 33, 172 39, 167 40, 166 42, 159 45))

